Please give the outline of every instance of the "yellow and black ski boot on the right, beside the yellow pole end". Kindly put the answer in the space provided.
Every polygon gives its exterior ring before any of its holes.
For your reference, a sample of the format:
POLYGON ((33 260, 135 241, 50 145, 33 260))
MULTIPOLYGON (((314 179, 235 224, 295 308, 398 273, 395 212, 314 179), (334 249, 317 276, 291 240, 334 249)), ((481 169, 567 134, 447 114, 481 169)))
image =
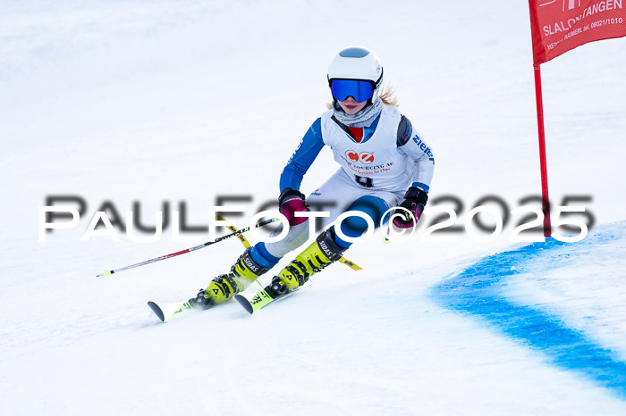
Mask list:
POLYGON ((334 242, 334 227, 326 229, 272 279, 266 290, 275 298, 286 295, 304 285, 311 275, 339 260, 345 250, 334 242))

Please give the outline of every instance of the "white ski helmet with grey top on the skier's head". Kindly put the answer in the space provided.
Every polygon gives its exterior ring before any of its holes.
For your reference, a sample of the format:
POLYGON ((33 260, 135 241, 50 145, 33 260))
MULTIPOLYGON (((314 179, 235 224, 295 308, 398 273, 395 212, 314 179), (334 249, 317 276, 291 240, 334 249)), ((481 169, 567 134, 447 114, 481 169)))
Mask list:
MULTIPOLYGON (((327 78, 328 87, 331 88, 331 91, 333 79, 369 81, 372 85, 372 99, 375 99, 376 91, 383 82, 383 66, 380 64, 378 56, 367 47, 351 46, 334 55, 333 60, 328 65, 327 78)), ((336 100, 336 97, 334 99, 336 100)))

